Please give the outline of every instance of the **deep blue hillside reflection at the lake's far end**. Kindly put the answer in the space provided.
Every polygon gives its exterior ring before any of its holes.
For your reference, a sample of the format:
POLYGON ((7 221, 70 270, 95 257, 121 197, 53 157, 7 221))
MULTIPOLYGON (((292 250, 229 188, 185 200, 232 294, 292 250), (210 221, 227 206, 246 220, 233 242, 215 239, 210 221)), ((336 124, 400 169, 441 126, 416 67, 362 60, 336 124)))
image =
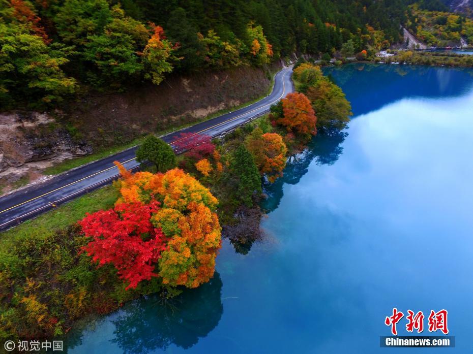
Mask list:
POLYGON ((352 64, 324 72, 343 89, 354 116, 404 98, 459 97, 473 87, 465 80, 465 75, 473 76, 472 71, 462 68, 352 64))

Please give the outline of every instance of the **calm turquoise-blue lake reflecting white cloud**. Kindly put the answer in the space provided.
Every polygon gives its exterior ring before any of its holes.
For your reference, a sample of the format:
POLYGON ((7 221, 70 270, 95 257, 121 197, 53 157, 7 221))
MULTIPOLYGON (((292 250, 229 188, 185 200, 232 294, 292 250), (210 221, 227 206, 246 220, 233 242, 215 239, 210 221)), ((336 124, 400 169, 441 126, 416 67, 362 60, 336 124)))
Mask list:
MULTIPOLYGON (((224 241, 210 283, 173 309, 149 297, 76 328, 69 353, 471 350, 473 71, 328 74, 353 119, 346 133, 317 136, 267 186, 264 240, 247 254, 224 241), (456 348, 380 348, 393 307, 426 317, 447 309, 456 348)), ((407 335, 405 317, 398 332, 407 335)))

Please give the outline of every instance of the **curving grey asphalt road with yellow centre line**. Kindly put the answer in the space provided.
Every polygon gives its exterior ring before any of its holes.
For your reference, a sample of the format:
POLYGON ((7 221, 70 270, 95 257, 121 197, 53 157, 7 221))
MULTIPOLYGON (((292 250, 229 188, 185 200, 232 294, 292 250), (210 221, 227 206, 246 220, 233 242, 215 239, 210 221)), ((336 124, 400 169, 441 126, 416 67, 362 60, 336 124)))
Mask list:
MULTIPOLYGON (((172 144, 180 133, 201 133, 217 137, 268 112, 273 103, 293 91, 291 73, 292 68, 278 72, 274 79, 273 91, 261 101, 238 111, 195 124, 179 132, 171 133, 164 136, 163 140, 172 144)), ((113 165, 115 160, 120 161, 129 170, 138 169, 139 164, 135 158, 136 148, 136 146, 132 147, 53 177, 40 185, 21 189, 0 198, 0 230, 6 230, 88 191, 110 184, 113 179, 119 176, 117 168, 113 165)))

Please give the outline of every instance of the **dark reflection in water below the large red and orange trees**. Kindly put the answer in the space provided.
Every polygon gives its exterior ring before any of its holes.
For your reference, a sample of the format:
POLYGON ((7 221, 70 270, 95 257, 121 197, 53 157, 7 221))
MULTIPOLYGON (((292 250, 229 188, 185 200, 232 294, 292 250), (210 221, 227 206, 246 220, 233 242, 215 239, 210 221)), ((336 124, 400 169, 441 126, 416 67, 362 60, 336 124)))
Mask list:
POLYGON ((171 344, 188 349, 219 323, 223 313, 222 280, 216 272, 210 282, 186 290, 163 306, 150 299, 137 300, 130 311, 113 321, 115 338, 126 353, 141 354, 167 349, 171 344))

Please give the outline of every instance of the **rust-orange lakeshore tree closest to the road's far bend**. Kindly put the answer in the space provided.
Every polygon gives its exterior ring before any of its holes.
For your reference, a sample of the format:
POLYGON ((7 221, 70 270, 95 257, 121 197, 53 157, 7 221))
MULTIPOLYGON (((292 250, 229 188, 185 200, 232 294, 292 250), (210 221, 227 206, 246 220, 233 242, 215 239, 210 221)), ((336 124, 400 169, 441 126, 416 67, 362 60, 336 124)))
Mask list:
POLYGON ((304 136, 316 135, 317 129, 312 104, 305 94, 299 92, 289 93, 282 101, 283 115, 276 122, 286 127, 288 132, 304 136))

